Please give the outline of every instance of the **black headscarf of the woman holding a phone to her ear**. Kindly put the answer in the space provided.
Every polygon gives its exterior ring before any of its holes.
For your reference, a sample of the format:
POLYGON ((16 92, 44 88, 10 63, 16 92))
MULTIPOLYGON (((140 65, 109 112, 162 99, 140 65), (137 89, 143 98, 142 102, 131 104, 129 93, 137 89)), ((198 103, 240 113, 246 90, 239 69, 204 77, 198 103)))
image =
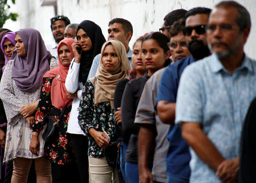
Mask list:
POLYGON ((80 59, 79 82, 85 84, 90 67, 92 66, 93 58, 97 56, 97 54, 101 53, 101 47, 106 40, 102 35, 101 28, 90 20, 82 21, 78 25, 77 31, 79 31, 80 28, 86 32, 86 34, 90 37, 90 41, 92 41, 92 49, 90 49, 88 52, 82 51, 80 59))

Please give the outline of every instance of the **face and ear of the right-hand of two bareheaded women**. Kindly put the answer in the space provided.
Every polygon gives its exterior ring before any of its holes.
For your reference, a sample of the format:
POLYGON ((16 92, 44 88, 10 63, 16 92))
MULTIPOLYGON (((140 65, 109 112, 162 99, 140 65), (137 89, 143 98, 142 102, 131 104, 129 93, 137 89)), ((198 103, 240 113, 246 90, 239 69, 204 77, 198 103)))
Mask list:
MULTIPOLYGON (((168 53, 168 52, 167 52, 168 53)), ((142 61, 147 70, 159 70, 164 67, 164 62, 169 57, 154 39, 142 43, 142 61)))

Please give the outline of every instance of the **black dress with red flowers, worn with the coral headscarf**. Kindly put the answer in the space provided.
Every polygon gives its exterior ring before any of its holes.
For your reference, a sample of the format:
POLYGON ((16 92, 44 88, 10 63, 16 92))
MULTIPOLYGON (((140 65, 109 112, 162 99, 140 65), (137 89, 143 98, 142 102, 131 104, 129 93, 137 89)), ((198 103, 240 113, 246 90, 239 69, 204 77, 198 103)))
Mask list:
POLYGON ((74 160, 72 146, 68 138, 67 127, 71 106, 67 107, 63 113, 61 121, 59 116, 63 109, 57 109, 51 104, 51 83, 53 78, 43 78, 42 89, 40 93, 40 100, 35 116, 35 122, 32 130, 40 132, 43 130, 46 116, 52 116, 57 121, 57 130, 55 131, 58 137, 53 142, 46 142, 44 144, 44 157, 51 163, 60 165, 67 164, 74 160))

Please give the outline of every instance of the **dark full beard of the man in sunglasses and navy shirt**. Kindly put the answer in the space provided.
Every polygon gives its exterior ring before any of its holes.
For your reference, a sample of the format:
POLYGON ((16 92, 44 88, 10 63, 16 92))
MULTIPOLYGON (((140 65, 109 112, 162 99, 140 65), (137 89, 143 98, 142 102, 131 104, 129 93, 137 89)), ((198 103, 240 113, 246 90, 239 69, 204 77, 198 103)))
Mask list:
POLYGON ((210 55, 208 46, 205 45, 202 40, 192 39, 192 41, 188 43, 188 50, 196 60, 210 55))

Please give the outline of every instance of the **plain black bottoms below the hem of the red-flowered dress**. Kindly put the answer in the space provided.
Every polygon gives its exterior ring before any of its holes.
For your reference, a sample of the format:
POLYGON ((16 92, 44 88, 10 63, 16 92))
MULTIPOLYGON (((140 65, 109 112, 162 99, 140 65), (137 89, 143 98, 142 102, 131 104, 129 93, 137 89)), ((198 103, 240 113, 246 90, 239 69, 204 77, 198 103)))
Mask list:
POLYGON ((59 165, 51 163, 52 166, 52 183, 69 183, 79 182, 79 172, 76 163, 59 165))

